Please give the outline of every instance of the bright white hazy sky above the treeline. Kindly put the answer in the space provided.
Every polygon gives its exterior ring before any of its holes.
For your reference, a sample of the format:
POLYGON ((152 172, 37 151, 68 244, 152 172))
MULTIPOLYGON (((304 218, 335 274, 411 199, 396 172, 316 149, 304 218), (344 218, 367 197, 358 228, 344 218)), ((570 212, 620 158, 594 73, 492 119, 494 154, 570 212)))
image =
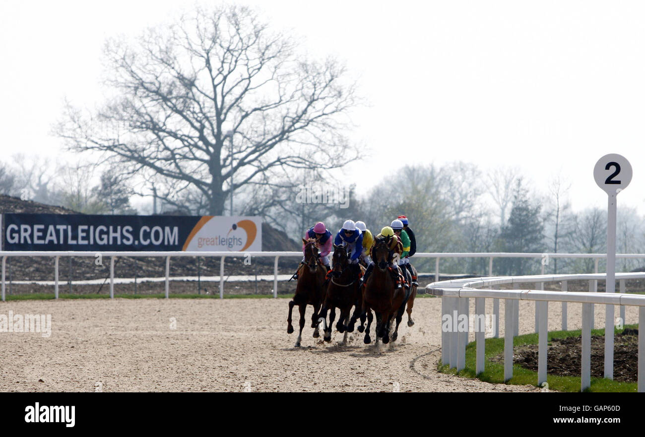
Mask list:
MULTIPOLYGON (((197 2, 202 5, 216 1, 197 2)), ((370 148, 349 181, 374 168, 454 160, 514 166, 546 191, 571 182, 574 209, 606 208, 595 162, 633 168, 621 206, 645 213, 645 3, 637 1, 246 1, 292 29, 312 57, 336 55, 369 106, 352 139, 370 148)), ((190 9, 179 1, 0 0, 3 160, 55 157, 48 135, 63 99, 101 100, 106 37, 136 35, 190 9)))

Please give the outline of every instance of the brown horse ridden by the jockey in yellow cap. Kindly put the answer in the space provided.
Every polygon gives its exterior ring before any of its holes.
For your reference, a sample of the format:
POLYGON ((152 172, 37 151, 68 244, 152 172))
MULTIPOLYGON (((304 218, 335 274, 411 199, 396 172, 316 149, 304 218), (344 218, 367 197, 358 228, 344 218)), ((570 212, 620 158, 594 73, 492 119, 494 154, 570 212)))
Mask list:
MULTIPOLYGON (((406 290, 404 287, 395 288, 396 284, 388 271, 392 257, 390 256, 390 248, 388 248, 384 238, 377 240, 372 253, 376 268, 364 285, 361 320, 365 313, 368 314, 369 318, 370 310, 372 309, 376 314, 377 340, 382 338, 383 343, 388 344, 390 342, 390 326, 392 325, 393 316, 396 316, 397 324, 392 334, 392 341, 395 341, 399 336, 399 324, 401 323, 403 311, 405 311, 405 305, 408 302, 408 298, 410 298, 410 290, 406 290)), ((365 330, 364 343, 370 343, 370 324, 365 330)))

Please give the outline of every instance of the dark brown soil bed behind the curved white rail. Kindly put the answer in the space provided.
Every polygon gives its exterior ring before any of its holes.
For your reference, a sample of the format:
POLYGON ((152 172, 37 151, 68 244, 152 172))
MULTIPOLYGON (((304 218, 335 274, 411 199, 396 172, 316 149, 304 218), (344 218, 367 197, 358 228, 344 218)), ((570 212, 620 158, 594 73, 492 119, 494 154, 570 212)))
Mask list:
MULTIPOLYGON (((638 381, 638 329, 625 329, 614 336, 613 379, 638 381)), ((515 363, 537 372, 538 346, 515 347, 515 363)), ((547 371, 560 376, 580 376, 582 337, 553 338, 548 346, 547 371)), ((500 357, 503 360, 503 356, 500 357)), ((604 377, 604 336, 591 336, 591 376, 604 377)))

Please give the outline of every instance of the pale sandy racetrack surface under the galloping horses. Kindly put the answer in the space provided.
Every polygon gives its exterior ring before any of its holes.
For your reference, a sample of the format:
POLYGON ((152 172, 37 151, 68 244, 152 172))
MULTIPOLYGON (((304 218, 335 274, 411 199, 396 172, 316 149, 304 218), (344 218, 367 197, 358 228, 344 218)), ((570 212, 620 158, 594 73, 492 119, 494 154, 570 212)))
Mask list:
MULTIPOLYGON (((559 329, 559 308, 550 306, 550 329, 559 329)), ((51 315, 52 333, 0 333, 0 391, 539 391, 438 373, 439 298, 417 298, 415 325, 405 315, 399 340, 378 350, 357 331, 339 345, 334 329, 324 344, 310 322, 294 348, 298 313, 288 335, 285 298, 0 302, 0 315, 9 311, 51 315)), ((580 311, 569 305, 570 329, 580 311)), ((533 329, 532 303, 521 302, 520 320, 521 334, 533 329)), ((604 323, 604 306, 595 320, 604 323)))

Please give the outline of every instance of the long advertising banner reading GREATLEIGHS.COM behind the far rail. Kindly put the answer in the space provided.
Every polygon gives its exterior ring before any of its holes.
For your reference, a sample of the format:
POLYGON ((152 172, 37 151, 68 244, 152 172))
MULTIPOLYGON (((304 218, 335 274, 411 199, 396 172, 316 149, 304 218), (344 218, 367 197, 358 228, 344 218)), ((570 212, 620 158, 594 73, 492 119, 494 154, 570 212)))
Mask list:
POLYGON ((19 251, 261 251, 261 217, 3 215, 3 249, 19 251))

